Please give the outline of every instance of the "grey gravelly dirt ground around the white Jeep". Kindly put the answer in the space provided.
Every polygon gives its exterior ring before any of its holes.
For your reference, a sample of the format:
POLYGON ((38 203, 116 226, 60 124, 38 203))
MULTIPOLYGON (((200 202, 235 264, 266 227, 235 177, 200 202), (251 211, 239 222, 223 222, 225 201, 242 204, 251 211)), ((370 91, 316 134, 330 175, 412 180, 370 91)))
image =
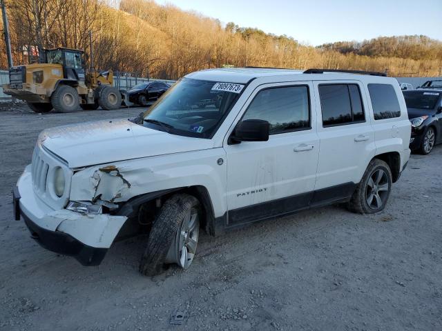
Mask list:
POLYGON ((186 272, 139 274, 146 237, 98 267, 41 248, 11 201, 37 134, 140 111, 0 111, 0 330, 442 330, 442 146, 412 155, 379 214, 332 206, 203 234, 186 272))

